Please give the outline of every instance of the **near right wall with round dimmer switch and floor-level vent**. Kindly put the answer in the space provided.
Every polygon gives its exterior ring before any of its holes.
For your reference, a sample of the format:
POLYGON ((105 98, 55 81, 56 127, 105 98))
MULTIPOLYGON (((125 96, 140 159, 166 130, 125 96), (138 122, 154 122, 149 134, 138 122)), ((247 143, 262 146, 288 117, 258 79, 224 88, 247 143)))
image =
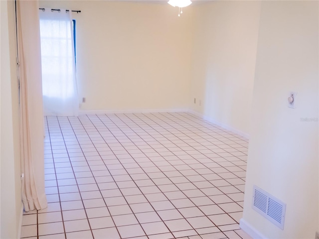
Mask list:
POLYGON ((319 231, 318 3, 262 1, 241 223, 265 238, 319 231), (298 92, 295 109, 290 91, 298 92), (287 203, 283 231, 252 209, 253 185, 287 203))

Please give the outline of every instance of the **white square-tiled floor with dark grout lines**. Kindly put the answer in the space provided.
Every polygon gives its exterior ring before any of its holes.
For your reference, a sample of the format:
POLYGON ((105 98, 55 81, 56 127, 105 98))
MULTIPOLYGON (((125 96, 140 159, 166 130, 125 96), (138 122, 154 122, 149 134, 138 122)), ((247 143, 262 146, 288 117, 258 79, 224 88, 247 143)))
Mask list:
POLYGON ((21 238, 240 239, 247 139, 188 113, 47 117, 21 238))

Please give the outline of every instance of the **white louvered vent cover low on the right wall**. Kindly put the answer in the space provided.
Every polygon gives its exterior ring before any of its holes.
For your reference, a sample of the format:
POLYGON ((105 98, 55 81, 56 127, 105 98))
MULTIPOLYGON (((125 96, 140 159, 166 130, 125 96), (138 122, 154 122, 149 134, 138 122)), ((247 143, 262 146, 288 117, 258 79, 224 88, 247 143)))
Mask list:
POLYGON ((253 209, 284 230, 286 203, 260 189, 253 187, 253 209))

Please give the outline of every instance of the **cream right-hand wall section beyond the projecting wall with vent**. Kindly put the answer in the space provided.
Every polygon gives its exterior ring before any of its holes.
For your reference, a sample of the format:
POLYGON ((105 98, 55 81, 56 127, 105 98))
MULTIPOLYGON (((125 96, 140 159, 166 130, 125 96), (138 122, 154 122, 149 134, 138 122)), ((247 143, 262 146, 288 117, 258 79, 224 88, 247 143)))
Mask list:
POLYGON ((260 1, 211 1, 192 8, 190 109, 248 136, 260 1))

